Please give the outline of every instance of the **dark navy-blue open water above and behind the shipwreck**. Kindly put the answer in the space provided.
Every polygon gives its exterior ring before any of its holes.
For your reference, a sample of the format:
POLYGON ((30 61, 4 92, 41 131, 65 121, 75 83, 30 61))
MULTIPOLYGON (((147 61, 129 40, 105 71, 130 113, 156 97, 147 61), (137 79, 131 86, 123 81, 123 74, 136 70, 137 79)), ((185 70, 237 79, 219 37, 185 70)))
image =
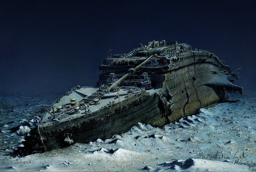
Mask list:
POLYGON ((254 1, 0 1, 0 93, 95 86, 103 58, 152 40, 208 50, 256 84, 254 1))

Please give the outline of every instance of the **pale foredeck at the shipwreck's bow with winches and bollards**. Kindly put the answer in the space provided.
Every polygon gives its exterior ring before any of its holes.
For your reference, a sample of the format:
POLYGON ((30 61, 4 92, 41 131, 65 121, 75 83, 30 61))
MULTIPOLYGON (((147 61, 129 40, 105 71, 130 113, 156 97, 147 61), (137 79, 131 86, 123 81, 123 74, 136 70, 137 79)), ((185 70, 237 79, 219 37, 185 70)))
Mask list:
MULTIPOLYGON (((154 94, 160 89, 147 90, 148 94, 154 94)), ((98 91, 95 87, 81 87, 80 89, 74 90, 69 95, 65 95, 59 98, 55 103, 52 104, 52 108, 42 116, 41 126, 52 125, 54 123, 60 123, 63 121, 79 118, 81 116, 87 119, 94 118, 91 114, 102 108, 109 107, 112 105, 125 101, 131 96, 140 94, 143 89, 136 87, 121 87, 118 92, 106 92, 104 95, 95 95, 98 91), (71 99, 75 99, 75 104, 71 104, 71 99), (84 101, 83 104, 79 102, 84 101), (79 109, 75 110, 78 106, 79 109), (57 107, 61 107, 57 110, 57 107)))

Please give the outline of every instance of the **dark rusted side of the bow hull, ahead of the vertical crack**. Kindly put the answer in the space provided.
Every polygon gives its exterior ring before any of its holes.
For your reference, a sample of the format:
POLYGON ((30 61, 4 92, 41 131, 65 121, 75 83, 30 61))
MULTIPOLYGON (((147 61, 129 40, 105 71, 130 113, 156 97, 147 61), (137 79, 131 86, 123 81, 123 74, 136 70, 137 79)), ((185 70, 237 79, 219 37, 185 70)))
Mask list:
POLYGON ((38 127, 45 150, 69 146, 72 143, 86 143, 98 138, 108 139, 115 134, 121 134, 138 122, 163 125, 158 107, 159 96, 148 95, 146 91, 126 100, 122 105, 115 104, 92 113, 97 116, 91 120, 76 118, 51 126, 38 127), (66 141, 65 141, 66 140, 66 141), (72 140, 72 142, 70 142, 72 140))

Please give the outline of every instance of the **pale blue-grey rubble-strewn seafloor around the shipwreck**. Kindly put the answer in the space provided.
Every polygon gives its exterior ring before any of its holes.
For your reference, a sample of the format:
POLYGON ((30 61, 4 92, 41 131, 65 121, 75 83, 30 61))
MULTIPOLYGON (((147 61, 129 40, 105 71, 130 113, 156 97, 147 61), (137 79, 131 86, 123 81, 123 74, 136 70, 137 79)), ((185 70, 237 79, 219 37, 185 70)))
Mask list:
POLYGON ((38 105, 58 94, 1 95, 0 171, 256 171, 256 92, 162 128, 42 152, 38 105), (239 100, 239 101, 233 101, 239 100))

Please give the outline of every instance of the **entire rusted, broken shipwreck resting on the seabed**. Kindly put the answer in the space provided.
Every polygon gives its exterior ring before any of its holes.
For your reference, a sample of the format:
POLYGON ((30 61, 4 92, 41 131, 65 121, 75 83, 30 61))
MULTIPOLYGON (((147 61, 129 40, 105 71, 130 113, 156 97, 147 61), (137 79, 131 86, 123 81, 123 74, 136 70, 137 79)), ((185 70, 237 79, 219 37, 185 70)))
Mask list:
POLYGON ((177 41, 151 41, 110 55, 96 87, 79 85, 42 105, 38 132, 46 151, 111 138, 138 122, 161 127, 242 94, 235 73, 213 53, 177 41))

